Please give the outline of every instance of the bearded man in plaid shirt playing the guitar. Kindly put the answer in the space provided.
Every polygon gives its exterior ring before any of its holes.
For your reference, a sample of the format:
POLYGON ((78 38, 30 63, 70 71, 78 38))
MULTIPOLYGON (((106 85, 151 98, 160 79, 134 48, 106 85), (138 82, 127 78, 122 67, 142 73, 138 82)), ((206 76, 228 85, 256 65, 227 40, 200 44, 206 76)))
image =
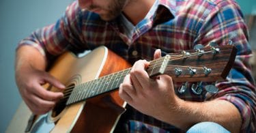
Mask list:
POLYGON ((65 88, 45 72, 48 63, 66 50, 80 52, 105 45, 134 64, 119 87, 119 96, 129 105, 117 132, 198 127, 208 132, 210 127, 219 128, 216 132, 255 132, 256 95, 247 40, 242 14, 232 0, 79 0, 68 6, 57 23, 20 42, 16 83, 33 113, 47 113, 63 94, 41 85, 65 88), (216 84, 220 91, 210 96, 177 93, 179 84, 173 84, 170 76, 149 78, 145 72, 149 63, 139 60, 178 53, 196 44, 208 46, 212 41, 225 45, 229 40, 238 48, 236 61, 227 80, 216 84))

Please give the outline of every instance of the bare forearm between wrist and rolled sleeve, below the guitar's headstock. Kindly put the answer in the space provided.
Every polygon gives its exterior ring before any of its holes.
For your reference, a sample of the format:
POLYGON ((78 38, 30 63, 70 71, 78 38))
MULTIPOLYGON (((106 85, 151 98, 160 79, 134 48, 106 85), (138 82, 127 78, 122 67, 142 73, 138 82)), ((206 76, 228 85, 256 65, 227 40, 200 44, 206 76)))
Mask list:
POLYGON ((223 125, 231 132, 239 132, 242 124, 240 113, 236 106, 225 100, 212 100, 210 102, 188 102, 177 100, 180 106, 172 108, 164 121, 178 128, 188 130, 195 123, 201 121, 214 121, 223 125))

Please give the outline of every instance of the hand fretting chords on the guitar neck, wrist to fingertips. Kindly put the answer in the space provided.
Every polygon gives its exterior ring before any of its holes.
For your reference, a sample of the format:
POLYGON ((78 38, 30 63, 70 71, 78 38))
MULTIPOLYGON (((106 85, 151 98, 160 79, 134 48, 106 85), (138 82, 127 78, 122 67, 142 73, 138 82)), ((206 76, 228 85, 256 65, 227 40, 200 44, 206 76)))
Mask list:
MULTIPOLYGON (((154 54, 155 59, 158 57, 160 50, 156 50, 154 54)), ((160 75, 150 78, 145 71, 148 65, 149 62, 145 60, 134 63, 130 74, 119 87, 119 95, 141 113, 163 119, 170 115, 170 110, 177 108, 178 97, 175 95, 171 77, 160 75)))

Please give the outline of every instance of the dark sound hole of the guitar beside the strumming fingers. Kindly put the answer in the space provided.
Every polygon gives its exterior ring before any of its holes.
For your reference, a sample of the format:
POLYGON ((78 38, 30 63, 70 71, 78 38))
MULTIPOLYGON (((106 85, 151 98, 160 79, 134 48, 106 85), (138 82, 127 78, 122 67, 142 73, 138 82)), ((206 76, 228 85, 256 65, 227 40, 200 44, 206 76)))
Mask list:
POLYGON ((63 91, 64 97, 56 103, 55 107, 52 110, 52 117, 57 117, 62 112, 62 110, 66 108, 66 102, 68 101, 68 98, 70 97, 70 94, 72 93, 73 89, 74 84, 69 85, 65 89, 65 91, 63 91))

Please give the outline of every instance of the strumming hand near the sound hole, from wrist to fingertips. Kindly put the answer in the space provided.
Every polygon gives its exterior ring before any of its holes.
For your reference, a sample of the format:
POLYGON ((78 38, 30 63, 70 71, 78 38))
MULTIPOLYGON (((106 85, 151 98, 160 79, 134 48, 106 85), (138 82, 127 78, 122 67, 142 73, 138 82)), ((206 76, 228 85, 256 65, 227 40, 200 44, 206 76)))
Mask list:
POLYGON ((16 72, 16 83, 23 100, 35 115, 47 113, 63 97, 63 93, 47 91, 42 85, 49 83, 59 89, 65 88, 47 72, 33 68, 16 72))

